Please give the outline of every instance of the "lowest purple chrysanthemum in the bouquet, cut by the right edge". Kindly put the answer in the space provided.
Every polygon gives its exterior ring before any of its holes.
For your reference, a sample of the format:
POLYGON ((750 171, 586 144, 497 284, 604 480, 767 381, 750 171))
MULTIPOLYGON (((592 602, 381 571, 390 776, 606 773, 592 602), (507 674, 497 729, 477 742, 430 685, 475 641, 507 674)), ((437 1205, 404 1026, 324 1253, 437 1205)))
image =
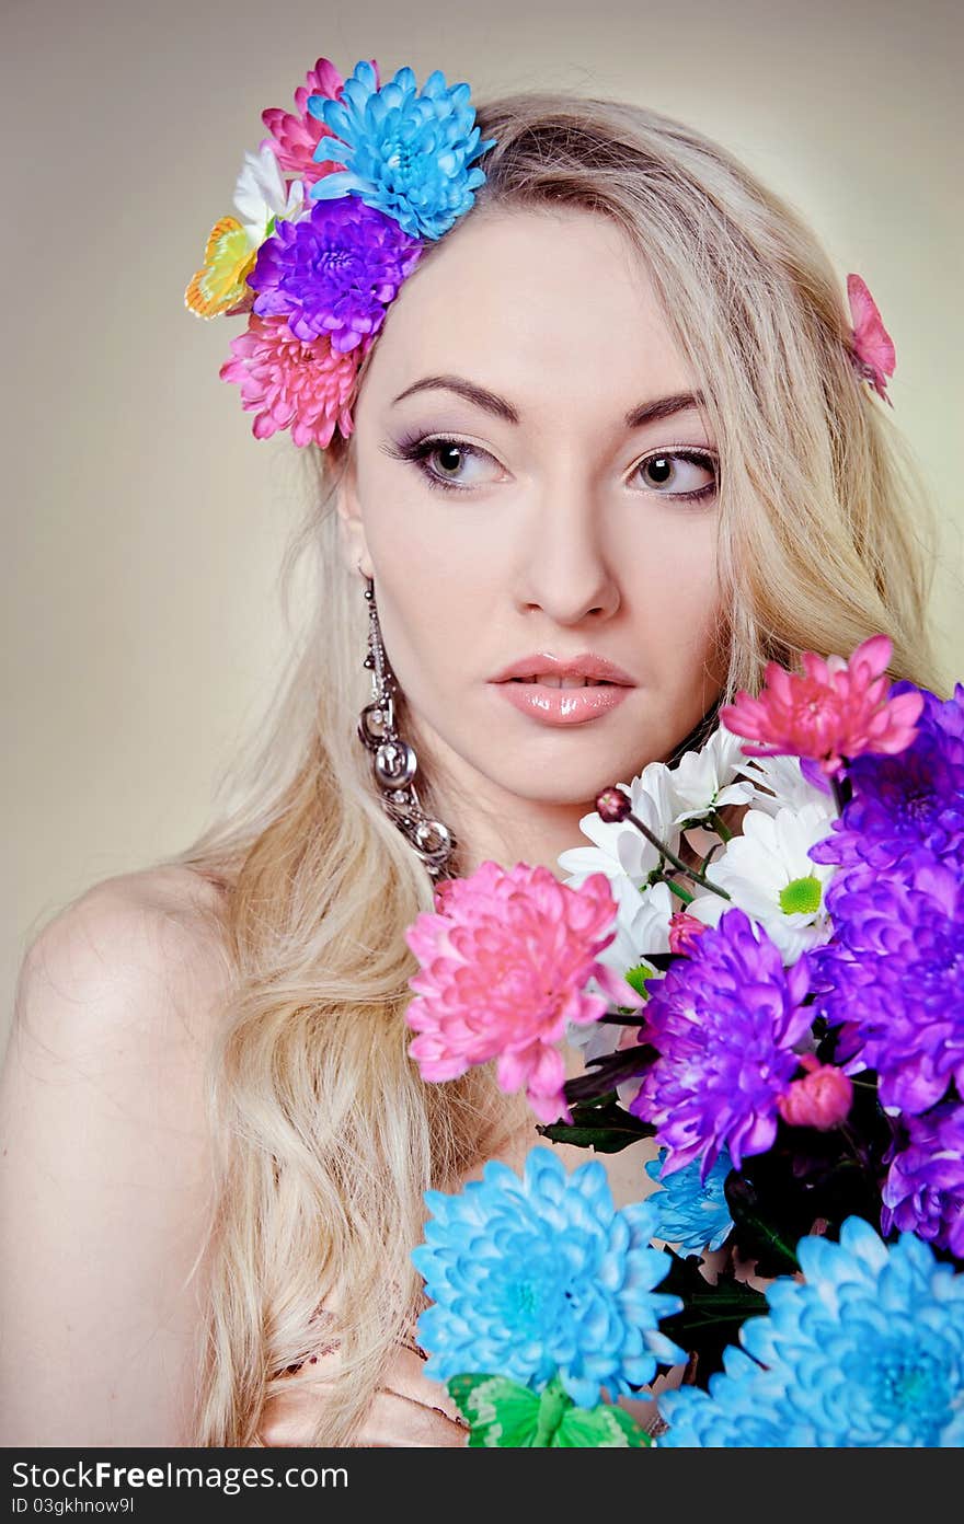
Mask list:
POLYGON ((950 1102, 908 1119, 908 1145, 891 1158, 883 1186, 885 1233, 909 1230, 964 1259, 964 1105, 950 1102))

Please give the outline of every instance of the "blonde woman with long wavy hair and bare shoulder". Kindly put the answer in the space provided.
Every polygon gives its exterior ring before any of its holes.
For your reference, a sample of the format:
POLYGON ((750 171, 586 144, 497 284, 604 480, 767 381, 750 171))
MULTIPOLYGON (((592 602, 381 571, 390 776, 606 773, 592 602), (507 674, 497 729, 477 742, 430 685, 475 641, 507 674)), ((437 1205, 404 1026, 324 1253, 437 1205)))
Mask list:
MULTIPOLYGON (((317 140, 300 94, 287 148, 265 113, 282 163, 317 140)), ((404 931, 433 884, 558 870, 596 792, 769 657, 883 631, 892 675, 938 686, 920 503, 813 235, 638 107, 525 94, 477 126, 474 204, 305 453, 313 616, 244 792, 24 962, 8 1445, 462 1443, 413 1343, 423 1192, 534 1135, 488 1071, 424 1085, 407 1058, 404 931), (358 738, 381 651, 418 757, 403 809, 358 738)), ((642 1193, 638 1160, 609 1167, 642 1193)))

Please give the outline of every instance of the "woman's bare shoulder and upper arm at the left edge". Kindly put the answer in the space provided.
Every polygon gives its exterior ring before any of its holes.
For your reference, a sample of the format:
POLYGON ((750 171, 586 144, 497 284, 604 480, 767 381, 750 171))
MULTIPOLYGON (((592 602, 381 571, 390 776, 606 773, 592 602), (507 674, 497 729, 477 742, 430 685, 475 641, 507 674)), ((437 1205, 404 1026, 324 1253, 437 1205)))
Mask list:
POLYGON ((0 1433, 183 1445, 215 1169, 218 890, 104 879, 35 937, 0 1074, 0 1433))

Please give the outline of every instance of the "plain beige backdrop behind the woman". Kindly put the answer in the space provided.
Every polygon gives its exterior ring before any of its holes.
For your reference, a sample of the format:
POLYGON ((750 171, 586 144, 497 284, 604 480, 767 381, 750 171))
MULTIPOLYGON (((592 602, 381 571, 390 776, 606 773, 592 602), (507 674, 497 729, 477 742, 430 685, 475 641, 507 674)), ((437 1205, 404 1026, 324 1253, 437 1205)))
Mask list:
MULTIPOLYGON (((175 850, 270 692, 287 445, 218 366, 239 320, 182 293, 262 107, 316 56, 645 102, 718 137, 860 271, 895 418, 943 526, 933 602, 964 677, 956 0, 0 0, 3 556, 0 986, 90 882, 175 850)), ((285 436, 287 439, 287 436, 285 436)), ((3 1017, 0 1017, 0 1035, 3 1017)))

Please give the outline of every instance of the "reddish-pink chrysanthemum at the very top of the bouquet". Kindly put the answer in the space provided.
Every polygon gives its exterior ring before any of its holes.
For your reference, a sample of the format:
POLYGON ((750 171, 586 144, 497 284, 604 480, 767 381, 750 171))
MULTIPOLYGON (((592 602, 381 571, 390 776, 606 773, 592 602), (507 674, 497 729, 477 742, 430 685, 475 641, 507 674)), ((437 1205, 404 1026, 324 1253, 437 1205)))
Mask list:
POLYGON ((760 698, 741 689, 720 719, 747 738, 747 756, 810 757, 828 776, 845 759, 903 751, 917 735, 924 698, 920 692, 888 698, 891 649, 886 636, 871 636, 850 661, 805 651, 802 675, 769 661, 760 698))

